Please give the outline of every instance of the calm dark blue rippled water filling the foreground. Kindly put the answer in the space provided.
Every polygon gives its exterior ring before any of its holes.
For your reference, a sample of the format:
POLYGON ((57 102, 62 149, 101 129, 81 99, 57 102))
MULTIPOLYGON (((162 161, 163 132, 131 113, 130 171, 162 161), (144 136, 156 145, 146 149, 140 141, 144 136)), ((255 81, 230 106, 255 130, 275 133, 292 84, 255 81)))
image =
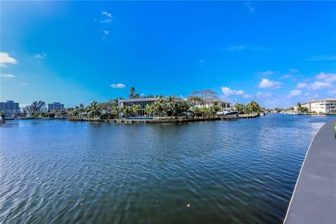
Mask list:
POLYGON ((8 122, 0 223, 282 223, 311 139, 331 118, 8 122))

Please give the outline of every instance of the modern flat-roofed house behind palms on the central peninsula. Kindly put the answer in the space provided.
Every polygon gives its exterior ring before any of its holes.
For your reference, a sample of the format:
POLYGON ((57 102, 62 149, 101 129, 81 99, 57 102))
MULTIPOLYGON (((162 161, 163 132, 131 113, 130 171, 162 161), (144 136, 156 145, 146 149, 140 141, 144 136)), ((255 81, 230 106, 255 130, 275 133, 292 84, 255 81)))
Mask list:
MULTIPOLYGON (((155 98, 155 97, 119 99, 118 100, 118 106, 120 106, 120 107, 123 107, 123 106, 132 107, 133 105, 140 105, 140 109, 137 112, 137 114, 128 113, 128 114, 125 114, 125 116, 144 116, 146 114, 146 112, 145 112, 146 105, 151 105, 157 100, 158 99, 155 98)), ((121 115, 124 115, 124 114, 121 113, 121 115)))

